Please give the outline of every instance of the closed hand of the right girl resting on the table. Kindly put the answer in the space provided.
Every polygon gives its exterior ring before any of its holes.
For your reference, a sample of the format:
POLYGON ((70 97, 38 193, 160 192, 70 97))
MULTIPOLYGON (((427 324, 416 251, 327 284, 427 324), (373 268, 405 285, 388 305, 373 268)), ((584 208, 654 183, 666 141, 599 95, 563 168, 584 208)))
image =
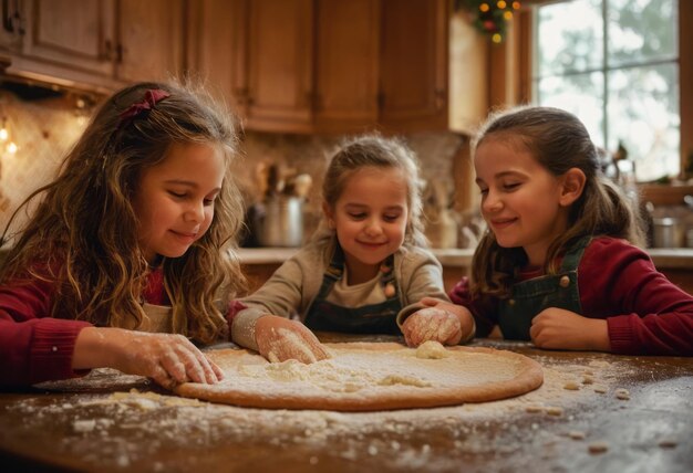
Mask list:
POLYGON ((531 319, 529 336, 539 348, 611 350, 607 320, 557 307, 545 308, 531 319))

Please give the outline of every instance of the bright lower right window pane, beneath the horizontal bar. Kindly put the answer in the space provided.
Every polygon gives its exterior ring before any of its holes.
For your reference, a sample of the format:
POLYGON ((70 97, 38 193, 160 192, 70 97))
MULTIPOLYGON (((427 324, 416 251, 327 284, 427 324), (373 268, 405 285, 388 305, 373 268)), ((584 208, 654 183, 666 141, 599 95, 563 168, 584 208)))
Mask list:
POLYGON ((609 73, 609 145, 619 140, 640 181, 679 172, 679 71, 674 64, 609 73))

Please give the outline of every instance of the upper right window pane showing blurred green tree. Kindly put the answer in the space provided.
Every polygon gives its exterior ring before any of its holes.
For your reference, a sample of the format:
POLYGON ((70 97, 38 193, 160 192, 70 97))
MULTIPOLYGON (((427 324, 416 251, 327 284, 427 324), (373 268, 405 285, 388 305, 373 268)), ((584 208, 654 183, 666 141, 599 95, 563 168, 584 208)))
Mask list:
MULTIPOLYGON (((690 1, 690 0, 689 0, 690 1)), ((676 57, 674 0, 609 0, 609 66, 676 57)))

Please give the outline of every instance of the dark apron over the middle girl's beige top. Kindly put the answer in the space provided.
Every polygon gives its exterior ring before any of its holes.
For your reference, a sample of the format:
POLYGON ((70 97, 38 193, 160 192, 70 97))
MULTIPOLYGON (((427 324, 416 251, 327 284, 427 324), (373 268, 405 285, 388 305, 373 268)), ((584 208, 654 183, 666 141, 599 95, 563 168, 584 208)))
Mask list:
POLYGON ((384 302, 361 307, 344 307, 327 301, 335 282, 344 273, 344 253, 338 244, 330 266, 322 277, 322 285, 303 322, 311 330, 348 334, 401 335, 397 314, 402 311, 400 287, 394 277, 394 256, 390 255, 381 266, 381 284, 392 285, 394 292, 384 302))

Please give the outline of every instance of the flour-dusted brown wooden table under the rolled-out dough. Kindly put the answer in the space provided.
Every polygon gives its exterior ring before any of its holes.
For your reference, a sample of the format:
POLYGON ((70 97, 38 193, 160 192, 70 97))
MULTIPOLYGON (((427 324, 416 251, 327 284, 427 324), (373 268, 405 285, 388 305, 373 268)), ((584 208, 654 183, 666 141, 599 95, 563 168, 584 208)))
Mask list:
POLYGON ((211 404, 168 396, 143 378, 121 375, 120 383, 108 385, 104 377, 99 389, 81 392, 0 392, 0 464, 11 471, 207 473, 690 471, 690 358, 473 345, 538 360, 544 386, 504 401, 343 413, 211 404), (567 380, 578 389, 566 389, 567 380))

